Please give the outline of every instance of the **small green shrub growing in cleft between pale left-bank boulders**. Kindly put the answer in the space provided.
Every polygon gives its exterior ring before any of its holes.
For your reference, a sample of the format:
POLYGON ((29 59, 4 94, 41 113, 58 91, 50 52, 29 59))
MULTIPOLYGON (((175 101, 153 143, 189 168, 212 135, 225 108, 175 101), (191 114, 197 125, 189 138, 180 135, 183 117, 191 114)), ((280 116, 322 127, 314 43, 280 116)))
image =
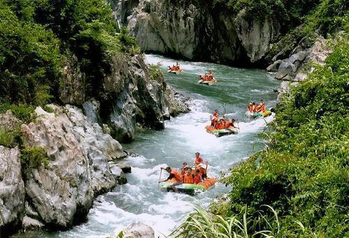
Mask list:
POLYGON ((49 163, 49 158, 42 147, 24 147, 21 151, 22 173, 26 174, 29 169, 37 169, 40 166, 45 166, 49 163))

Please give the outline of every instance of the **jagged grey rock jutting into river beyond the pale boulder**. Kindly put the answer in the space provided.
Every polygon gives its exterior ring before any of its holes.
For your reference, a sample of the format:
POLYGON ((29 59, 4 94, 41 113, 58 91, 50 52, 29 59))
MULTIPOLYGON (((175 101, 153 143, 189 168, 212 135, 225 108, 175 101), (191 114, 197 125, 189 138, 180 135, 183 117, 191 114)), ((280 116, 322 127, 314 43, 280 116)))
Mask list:
MULTIPOLYGON (((151 78, 142 55, 131 60, 114 57, 112 73, 105 77, 105 91, 114 95, 109 121, 117 140, 129 142, 135 135, 136 123, 162 129, 164 116, 188 112, 188 105, 177 100, 161 76, 151 78)), ((105 114, 105 113, 104 113, 105 114)))

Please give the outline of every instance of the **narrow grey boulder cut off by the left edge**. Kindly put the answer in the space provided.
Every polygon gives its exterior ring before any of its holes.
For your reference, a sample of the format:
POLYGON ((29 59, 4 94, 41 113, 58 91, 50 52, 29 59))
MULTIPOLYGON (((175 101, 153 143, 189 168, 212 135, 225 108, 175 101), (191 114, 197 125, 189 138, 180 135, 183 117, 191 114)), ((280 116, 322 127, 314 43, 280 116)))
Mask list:
POLYGON ((24 195, 20 150, 0 146, 0 236, 22 223, 24 195))

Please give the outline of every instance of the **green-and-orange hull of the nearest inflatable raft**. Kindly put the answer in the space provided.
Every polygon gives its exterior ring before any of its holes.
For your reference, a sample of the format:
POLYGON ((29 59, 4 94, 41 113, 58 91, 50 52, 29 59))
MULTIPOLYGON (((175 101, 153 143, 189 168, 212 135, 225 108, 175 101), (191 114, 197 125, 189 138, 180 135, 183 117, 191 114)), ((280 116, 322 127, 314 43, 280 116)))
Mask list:
MULTIPOLYGON (((179 193, 186 193, 189 195, 195 195, 195 193, 202 192, 202 191, 207 191, 211 188, 214 188, 214 184, 216 184, 216 179, 215 178, 208 178, 204 181, 202 181, 199 184, 179 184, 176 186, 178 189, 179 193)), ((170 192, 173 191, 171 188, 171 185, 176 183, 176 179, 170 179, 168 181, 162 182, 160 186, 160 190, 163 192, 170 192)))

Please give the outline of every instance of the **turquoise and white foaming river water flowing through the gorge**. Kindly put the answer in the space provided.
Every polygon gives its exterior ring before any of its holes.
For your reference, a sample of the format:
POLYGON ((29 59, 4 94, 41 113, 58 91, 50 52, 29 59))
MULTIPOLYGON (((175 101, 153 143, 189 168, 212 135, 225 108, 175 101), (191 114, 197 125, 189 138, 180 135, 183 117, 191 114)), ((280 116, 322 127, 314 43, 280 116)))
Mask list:
MULTIPOLYGON (((244 113, 249 101, 263 99, 267 107, 276 105, 273 89, 279 87, 279 81, 272 75, 258 69, 188 61, 179 61, 184 73, 173 75, 166 71, 175 63, 173 59, 150 54, 147 62, 160 63, 168 84, 192 98, 191 112, 166 121, 163 131, 138 129, 135 141, 123 145, 124 149, 139 154, 124 161, 132 166, 132 173, 126 174, 128 184, 99 196, 87 223, 65 232, 36 233, 36 237, 106 237, 137 222, 151 225, 156 235, 165 237, 193 211, 193 204, 208 206, 232 188, 216 184, 214 189, 196 196, 162 193, 157 189, 161 167, 180 168, 184 161, 193 164, 195 152, 199 151, 204 161, 209 162, 209 177, 220 177, 221 172, 264 146, 258 133, 265 130, 272 117, 249 121, 244 113), (197 75, 208 70, 212 70, 218 80, 211 87, 197 82, 197 75), (240 133, 219 138, 206 133, 204 127, 215 109, 237 119, 240 133)), ((167 176, 163 172, 162 178, 167 176)))

